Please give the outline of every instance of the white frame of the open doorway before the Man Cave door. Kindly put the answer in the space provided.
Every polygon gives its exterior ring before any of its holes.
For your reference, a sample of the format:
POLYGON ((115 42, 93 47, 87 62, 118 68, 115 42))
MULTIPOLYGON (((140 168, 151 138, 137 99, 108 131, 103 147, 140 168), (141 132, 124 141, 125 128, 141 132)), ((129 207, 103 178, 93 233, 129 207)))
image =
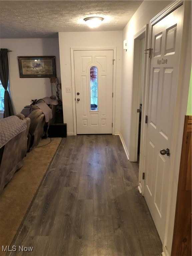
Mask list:
MULTIPOLYGON (((146 24, 134 37, 133 37, 133 82, 132 82, 132 97, 131 97, 131 127, 130 127, 130 150, 129 150, 129 161, 135 162, 137 160, 137 144, 138 144, 138 95, 140 93, 140 83, 137 79, 137 74, 140 70, 139 61, 140 56, 138 56, 138 46, 137 43, 140 42, 142 38, 145 37, 145 49, 147 49, 148 45, 148 33, 149 33, 149 25, 146 24), (135 48, 136 46, 136 48, 135 48)), ((140 47, 140 46, 139 46, 140 47)), ((144 54, 144 53, 143 53, 144 54)), ((143 191, 143 182, 142 173, 144 172, 145 166, 145 147, 144 147, 144 139, 145 139, 145 125, 144 125, 144 112, 146 108, 146 74, 147 74, 147 62, 148 62, 148 54, 144 55, 144 71, 143 71, 143 98, 142 98, 142 119, 141 119, 141 137, 140 137, 140 158, 139 158, 139 192, 143 191)))

